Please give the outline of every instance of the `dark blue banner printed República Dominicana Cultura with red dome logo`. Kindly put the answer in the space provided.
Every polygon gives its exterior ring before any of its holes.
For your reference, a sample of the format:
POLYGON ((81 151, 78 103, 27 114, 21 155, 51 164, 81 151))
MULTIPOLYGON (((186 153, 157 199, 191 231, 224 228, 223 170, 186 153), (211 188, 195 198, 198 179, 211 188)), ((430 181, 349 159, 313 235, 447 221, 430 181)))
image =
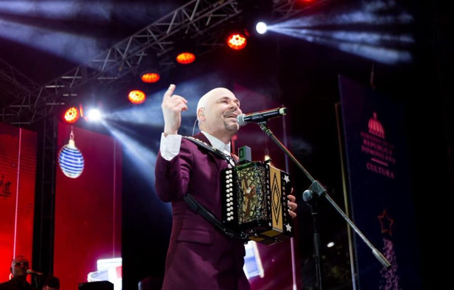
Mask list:
POLYGON ((339 87, 351 218, 392 264, 354 234, 358 288, 421 289, 404 108, 344 77, 339 87))

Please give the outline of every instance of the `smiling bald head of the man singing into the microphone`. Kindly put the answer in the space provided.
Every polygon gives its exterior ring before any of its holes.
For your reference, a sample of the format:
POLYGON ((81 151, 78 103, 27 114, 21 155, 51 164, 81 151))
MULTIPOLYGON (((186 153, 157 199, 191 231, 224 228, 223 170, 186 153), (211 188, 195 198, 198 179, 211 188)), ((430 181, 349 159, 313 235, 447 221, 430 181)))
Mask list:
POLYGON ((224 88, 214 89, 202 98, 206 100, 197 111, 200 129, 228 143, 239 129, 236 121, 241 114, 238 99, 224 88))

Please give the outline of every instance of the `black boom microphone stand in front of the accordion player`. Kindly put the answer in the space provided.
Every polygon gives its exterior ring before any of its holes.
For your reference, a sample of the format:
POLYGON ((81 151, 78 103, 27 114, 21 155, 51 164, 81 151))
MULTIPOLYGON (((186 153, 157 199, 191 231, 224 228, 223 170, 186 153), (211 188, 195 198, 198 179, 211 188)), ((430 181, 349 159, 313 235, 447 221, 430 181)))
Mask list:
POLYGON ((259 122, 258 125, 260 126, 260 129, 268 135, 268 137, 273 140, 274 143, 282 150, 284 153, 286 153, 290 159, 298 166, 298 168, 304 173, 304 175, 307 177, 307 179, 310 180, 312 183, 309 186, 309 189, 305 190, 303 192, 303 200, 310 206, 310 211, 312 215, 312 221, 313 221, 313 231, 314 231, 314 236, 313 236, 313 242, 314 242, 314 258, 316 262, 316 272, 317 272, 317 282, 318 282, 318 289, 322 290, 322 272, 320 269, 320 234, 318 232, 317 228, 317 201, 321 198, 324 197, 328 202, 334 207, 334 209, 342 216, 342 218, 350 225, 351 228, 360 236, 360 238, 366 243, 366 245, 370 248, 372 251, 372 254, 375 256, 375 258, 380 262, 380 264, 385 267, 386 269, 389 269, 391 267, 390 262, 383 256, 383 254, 380 253, 373 245, 372 243, 366 238, 366 236, 358 229, 358 227, 350 220, 347 215, 339 208, 339 206, 334 202, 334 200, 328 195, 328 191, 326 188, 318 181, 315 180, 309 172, 303 167, 303 165, 293 156, 293 154, 285 147, 284 144, 279 141, 279 139, 274 136, 274 134, 271 132, 271 130, 266 126, 266 121, 265 122, 259 122))

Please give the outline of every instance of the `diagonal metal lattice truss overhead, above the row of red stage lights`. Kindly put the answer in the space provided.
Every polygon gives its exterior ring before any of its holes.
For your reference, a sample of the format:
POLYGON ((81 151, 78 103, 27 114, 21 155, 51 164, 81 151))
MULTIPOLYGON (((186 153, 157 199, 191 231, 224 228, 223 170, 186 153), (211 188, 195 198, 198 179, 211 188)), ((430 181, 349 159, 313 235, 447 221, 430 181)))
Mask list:
MULTIPOLYGON (((282 21, 326 1, 300 7, 295 4, 296 0, 274 0, 273 14, 275 19, 282 21)), ((213 28, 222 28, 228 20, 240 14, 239 1, 236 0, 192 0, 42 87, 37 87, 28 78, 19 80, 5 75, 4 78, 14 80, 11 84, 17 89, 13 92, 15 100, 0 112, 0 120, 27 125, 49 116, 56 106, 76 101, 76 89, 82 85, 138 74, 138 66, 148 51, 156 53, 160 71, 170 69, 176 66, 169 52, 176 45, 177 35, 197 39, 202 47, 200 54, 205 54, 223 46, 224 39, 213 28)), ((11 70, 18 73, 13 68, 11 70)))

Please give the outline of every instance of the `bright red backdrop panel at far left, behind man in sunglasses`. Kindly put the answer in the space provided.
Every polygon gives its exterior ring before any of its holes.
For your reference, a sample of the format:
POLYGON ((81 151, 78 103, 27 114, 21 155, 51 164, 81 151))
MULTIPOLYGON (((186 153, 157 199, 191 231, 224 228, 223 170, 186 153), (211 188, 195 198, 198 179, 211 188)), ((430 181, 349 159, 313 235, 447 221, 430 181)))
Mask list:
POLYGON ((31 261, 37 135, 0 123, 0 281, 15 256, 31 261))

